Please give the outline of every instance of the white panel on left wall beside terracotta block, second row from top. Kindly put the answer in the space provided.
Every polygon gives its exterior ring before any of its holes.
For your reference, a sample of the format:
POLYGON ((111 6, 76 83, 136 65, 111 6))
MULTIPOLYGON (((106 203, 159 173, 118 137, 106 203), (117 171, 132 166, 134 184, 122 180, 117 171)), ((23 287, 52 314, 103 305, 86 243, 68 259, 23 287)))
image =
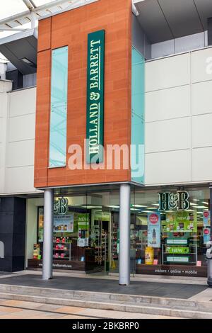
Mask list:
POLYGON ((9 120, 8 142, 35 139, 35 113, 9 120))

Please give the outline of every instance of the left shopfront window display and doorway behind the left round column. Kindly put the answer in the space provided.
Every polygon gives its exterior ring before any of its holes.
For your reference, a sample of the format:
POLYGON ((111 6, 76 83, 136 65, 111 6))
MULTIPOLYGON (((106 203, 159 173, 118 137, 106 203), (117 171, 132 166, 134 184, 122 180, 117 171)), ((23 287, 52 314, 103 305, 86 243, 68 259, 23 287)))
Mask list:
MULTIPOLYGON (((54 203, 53 268, 86 272, 109 271, 111 265, 111 213, 69 204, 71 198, 54 203)), ((99 208, 102 208, 101 206, 99 208)), ((29 268, 42 267, 44 208, 37 208, 37 244, 29 268)))

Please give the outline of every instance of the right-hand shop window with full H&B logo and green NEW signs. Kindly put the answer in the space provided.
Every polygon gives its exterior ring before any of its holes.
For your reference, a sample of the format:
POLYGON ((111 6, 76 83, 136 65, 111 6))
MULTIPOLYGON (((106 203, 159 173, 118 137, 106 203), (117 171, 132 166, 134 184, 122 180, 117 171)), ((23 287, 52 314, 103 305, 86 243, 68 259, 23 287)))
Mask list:
POLYGON ((211 230, 209 204, 209 188, 137 191, 133 205, 139 230, 135 233, 137 273, 145 273, 143 266, 155 273, 159 265, 167 274, 176 268, 175 275, 184 275, 192 272, 187 266, 206 266, 206 242, 211 230))

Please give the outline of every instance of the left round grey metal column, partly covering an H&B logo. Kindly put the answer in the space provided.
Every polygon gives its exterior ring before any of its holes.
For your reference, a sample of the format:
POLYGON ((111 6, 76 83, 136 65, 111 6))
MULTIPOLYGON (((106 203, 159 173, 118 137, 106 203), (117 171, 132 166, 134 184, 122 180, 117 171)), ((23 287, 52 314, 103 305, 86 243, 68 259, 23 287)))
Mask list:
POLYGON ((54 190, 48 188, 44 193, 44 239, 42 249, 42 278, 52 278, 53 261, 53 217, 54 217, 54 190))

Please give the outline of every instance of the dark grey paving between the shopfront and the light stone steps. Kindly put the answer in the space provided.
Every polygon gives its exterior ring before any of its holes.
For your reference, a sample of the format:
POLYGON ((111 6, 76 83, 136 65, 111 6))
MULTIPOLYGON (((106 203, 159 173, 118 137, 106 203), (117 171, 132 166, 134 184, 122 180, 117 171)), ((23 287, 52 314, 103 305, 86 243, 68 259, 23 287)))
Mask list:
POLYGON ((40 288, 57 288, 65 290, 86 290, 102 293, 122 293, 129 295, 146 295, 166 298, 188 299, 207 289, 204 285, 131 281, 130 286, 119 286, 117 280, 99 278, 79 278, 54 276, 50 281, 42 281, 41 276, 25 274, 21 276, 1 277, 1 284, 32 286, 40 288))

